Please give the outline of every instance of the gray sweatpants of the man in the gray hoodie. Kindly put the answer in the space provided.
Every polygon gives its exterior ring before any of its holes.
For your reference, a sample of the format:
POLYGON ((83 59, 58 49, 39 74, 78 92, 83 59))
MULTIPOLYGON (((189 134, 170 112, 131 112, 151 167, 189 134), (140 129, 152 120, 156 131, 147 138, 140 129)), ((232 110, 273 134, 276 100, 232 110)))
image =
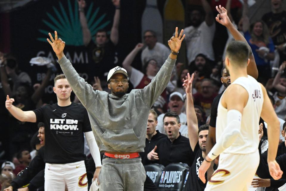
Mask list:
POLYGON ((141 158, 102 159, 100 191, 143 191, 145 179, 141 158))

